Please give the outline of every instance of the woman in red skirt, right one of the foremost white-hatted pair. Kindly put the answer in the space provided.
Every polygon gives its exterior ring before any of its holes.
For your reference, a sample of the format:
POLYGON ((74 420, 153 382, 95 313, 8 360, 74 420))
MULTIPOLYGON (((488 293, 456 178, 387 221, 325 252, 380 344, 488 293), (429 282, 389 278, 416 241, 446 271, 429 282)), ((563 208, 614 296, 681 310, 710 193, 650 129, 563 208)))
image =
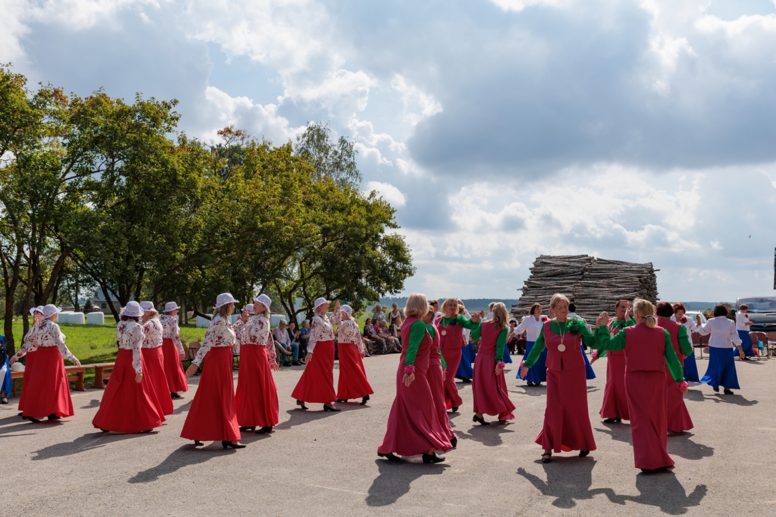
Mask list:
POLYGON ((275 362, 275 343, 269 332, 269 307, 272 300, 258 295, 254 304, 243 308, 237 320, 237 340, 240 342, 240 371, 237 373, 237 423, 241 431, 256 434, 272 433, 280 422, 278 387, 272 370, 279 371, 275 362), (251 316, 251 312, 254 314, 251 316))

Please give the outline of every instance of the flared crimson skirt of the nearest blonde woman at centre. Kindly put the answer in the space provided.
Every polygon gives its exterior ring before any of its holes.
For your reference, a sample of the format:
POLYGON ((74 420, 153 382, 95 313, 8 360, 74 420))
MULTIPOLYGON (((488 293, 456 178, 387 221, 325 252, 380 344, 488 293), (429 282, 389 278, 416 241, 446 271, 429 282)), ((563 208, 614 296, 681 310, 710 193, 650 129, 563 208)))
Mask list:
MULTIPOLYGON (((317 345, 316 345, 317 348, 317 345)), ((381 454, 398 453, 414 456, 429 449, 450 450, 450 434, 442 428, 427 371, 415 364, 415 380, 404 385, 404 361, 399 362, 396 373, 396 398, 388 415, 388 428, 383 441, 377 447, 381 454)), ((439 367, 442 370, 442 367, 439 367)), ((448 368, 448 372, 450 372, 448 368)), ((452 371, 455 373, 455 371, 452 371)), ((445 419, 447 419, 447 412, 445 419)), ((449 426, 449 424, 448 424, 449 426)), ((451 430, 452 432, 452 430, 451 430)))

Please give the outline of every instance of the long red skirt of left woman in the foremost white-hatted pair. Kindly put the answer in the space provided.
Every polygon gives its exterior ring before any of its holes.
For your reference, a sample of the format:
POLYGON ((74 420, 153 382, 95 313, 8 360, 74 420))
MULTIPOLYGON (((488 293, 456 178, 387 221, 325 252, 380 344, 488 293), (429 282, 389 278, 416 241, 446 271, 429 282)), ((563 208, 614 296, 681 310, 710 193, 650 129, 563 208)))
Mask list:
POLYGON ((213 346, 205 354, 205 359, 181 437, 202 442, 240 439, 234 403, 232 349, 230 346, 213 346))

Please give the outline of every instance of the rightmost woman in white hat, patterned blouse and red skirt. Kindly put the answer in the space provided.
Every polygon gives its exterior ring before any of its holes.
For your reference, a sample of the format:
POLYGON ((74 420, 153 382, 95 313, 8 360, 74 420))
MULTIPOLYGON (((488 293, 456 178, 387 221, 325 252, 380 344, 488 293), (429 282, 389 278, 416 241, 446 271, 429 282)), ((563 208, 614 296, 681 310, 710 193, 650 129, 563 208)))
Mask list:
POLYGON ((365 405, 372 395, 372 386, 366 380, 364 371, 364 343, 361 341, 359 323, 352 319, 353 309, 342 305, 334 312, 332 322, 337 326, 340 378, 337 384, 337 402, 348 402, 351 398, 360 398, 365 405))

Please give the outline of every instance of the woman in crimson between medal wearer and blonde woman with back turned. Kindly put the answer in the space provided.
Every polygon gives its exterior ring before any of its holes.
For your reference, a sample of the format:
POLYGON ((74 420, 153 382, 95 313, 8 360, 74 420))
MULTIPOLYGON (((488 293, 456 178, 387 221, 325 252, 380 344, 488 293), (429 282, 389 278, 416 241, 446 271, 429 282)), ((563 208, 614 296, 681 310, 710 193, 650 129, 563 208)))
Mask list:
MULTIPOLYGON (((616 316, 609 320, 609 333, 612 336, 625 327, 636 325, 636 320, 631 316, 631 306, 628 300, 620 300, 615 304, 616 316)), ((617 423, 622 420, 630 420, 628 414, 628 399, 625 397, 625 351, 614 350, 610 352, 593 350, 593 360, 606 356, 606 387, 604 388, 604 402, 601 411, 598 412, 606 423, 617 423)))

